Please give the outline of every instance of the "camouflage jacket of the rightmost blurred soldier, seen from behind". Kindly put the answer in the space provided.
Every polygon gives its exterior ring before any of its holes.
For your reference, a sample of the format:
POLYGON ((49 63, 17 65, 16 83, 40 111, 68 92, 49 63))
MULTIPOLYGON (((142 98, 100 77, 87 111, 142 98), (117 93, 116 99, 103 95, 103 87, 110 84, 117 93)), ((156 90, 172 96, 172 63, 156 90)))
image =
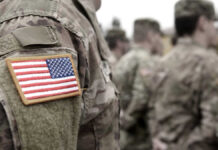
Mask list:
POLYGON ((168 150, 217 149, 216 53, 184 38, 160 64, 152 77, 153 137, 168 150))

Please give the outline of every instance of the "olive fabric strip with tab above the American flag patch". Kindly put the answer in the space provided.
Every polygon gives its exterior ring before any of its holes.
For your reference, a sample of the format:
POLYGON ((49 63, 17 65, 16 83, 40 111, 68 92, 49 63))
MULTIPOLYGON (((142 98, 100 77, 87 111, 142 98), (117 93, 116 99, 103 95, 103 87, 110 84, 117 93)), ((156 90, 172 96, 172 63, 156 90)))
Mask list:
POLYGON ((52 27, 24 27, 19 28, 0 38, 0 55, 21 49, 30 45, 58 45, 56 33, 52 27))

